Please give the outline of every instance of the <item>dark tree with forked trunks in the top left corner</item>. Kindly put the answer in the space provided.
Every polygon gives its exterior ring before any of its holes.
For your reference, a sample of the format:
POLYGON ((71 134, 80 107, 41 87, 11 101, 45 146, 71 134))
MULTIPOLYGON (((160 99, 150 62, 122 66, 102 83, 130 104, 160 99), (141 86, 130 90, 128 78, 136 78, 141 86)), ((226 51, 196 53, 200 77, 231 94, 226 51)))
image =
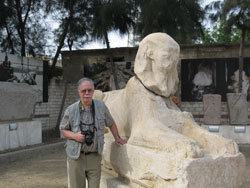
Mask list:
MULTIPOLYGON (((41 22, 43 1, 6 0, 3 2, 11 14, 1 22, 5 30, 1 30, 2 44, 11 53, 26 56, 28 48, 41 52, 46 41, 43 40, 46 29, 41 22)), ((1 25, 2 25, 1 24, 1 25)))

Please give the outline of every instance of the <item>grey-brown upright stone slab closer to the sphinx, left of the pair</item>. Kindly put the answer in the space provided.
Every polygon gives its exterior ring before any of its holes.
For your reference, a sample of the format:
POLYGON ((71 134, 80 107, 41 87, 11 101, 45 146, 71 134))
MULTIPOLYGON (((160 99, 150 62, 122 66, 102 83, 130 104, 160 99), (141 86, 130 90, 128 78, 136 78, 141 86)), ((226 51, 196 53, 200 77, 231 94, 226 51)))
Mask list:
POLYGON ((207 125, 219 125, 221 120, 221 96, 203 95, 204 123, 207 125))

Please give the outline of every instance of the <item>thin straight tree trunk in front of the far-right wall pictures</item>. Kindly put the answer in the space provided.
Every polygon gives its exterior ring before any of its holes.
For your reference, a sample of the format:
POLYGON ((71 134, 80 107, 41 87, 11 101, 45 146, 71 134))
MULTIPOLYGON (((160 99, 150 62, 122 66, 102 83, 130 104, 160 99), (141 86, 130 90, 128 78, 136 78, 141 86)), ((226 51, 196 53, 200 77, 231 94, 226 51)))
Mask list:
POLYGON ((239 54, 239 93, 242 93, 242 73, 244 65, 244 42, 245 42, 245 29, 241 30, 240 40, 240 54, 239 54))

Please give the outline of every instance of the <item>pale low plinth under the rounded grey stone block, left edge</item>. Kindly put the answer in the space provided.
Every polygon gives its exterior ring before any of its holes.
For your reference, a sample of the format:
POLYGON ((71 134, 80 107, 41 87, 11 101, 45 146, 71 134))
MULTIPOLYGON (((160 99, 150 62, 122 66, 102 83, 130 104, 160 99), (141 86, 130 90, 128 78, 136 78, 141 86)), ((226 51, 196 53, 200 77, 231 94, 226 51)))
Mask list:
POLYGON ((40 121, 0 124, 0 151, 42 143, 40 121))

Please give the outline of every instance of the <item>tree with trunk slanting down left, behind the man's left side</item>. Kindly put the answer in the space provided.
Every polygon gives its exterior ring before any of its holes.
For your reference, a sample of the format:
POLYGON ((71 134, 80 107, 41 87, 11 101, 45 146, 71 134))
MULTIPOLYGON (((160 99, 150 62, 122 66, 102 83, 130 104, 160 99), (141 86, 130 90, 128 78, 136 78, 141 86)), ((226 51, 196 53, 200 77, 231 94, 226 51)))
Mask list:
POLYGON ((57 50, 49 72, 49 79, 53 76, 53 71, 61 49, 65 45, 65 40, 67 39, 69 48, 72 49, 74 41, 86 36, 90 16, 88 14, 88 3, 87 0, 48 0, 48 12, 53 13, 54 21, 60 23, 55 31, 57 50))

